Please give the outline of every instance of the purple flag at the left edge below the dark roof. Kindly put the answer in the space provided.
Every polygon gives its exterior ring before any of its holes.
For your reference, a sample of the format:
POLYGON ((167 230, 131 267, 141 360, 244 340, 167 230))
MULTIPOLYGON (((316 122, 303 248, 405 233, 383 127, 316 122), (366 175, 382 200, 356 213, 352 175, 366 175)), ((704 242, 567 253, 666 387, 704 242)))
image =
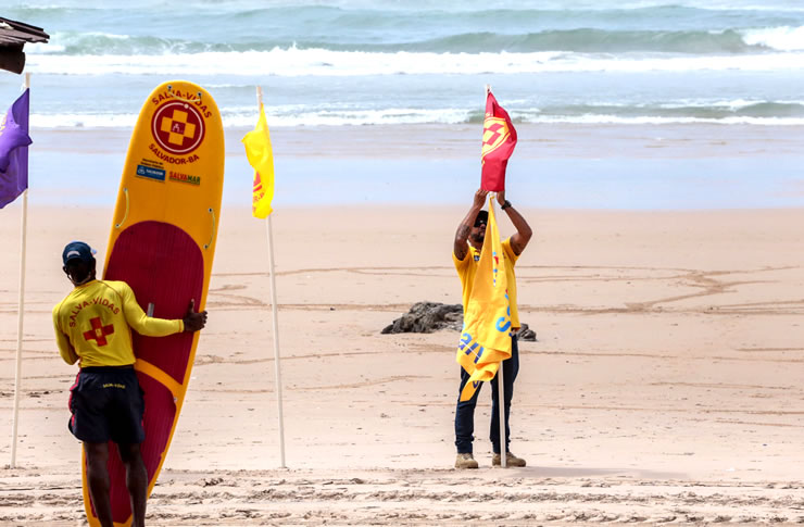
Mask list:
POLYGON ((0 118, 0 209, 28 188, 29 90, 0 118))

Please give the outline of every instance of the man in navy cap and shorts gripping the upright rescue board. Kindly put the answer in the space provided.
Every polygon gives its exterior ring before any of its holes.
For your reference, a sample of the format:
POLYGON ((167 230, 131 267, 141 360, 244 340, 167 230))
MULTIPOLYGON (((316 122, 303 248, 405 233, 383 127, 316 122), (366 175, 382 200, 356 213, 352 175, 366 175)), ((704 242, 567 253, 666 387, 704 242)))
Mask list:
POLYGON ((131 330, 149 337, 198 331, 206 312, 183 319, 146 315, 124 281, 96 279, 93 250, 81 241, 67 243, 62 253, 64 273, 75 289, 53 308, 59 352, 80 372, 70 389, 68 428, 83 441, 92 504, 101 525, 113 527, 109 501, 109 441, 117 443, 126 467, 133 526, 145 525, 148 474, 139 444, 145 439, 142 390, 134 371, 131 330))

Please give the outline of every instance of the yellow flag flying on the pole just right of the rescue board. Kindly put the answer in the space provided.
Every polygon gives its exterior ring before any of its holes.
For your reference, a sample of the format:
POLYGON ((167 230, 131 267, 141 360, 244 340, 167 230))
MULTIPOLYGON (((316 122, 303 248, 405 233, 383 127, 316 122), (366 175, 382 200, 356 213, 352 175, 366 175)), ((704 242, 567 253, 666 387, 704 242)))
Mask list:
POLYGON ((268 122, 265 120, 265 109, 260 103, 260 120, 252 131, 243 137, 246 156, 254 168, 254 186, 252 190, 251 214, 254 217, 266 218, 271 214, 271 202, 274 200, 274 151, 271 148, 268 122))

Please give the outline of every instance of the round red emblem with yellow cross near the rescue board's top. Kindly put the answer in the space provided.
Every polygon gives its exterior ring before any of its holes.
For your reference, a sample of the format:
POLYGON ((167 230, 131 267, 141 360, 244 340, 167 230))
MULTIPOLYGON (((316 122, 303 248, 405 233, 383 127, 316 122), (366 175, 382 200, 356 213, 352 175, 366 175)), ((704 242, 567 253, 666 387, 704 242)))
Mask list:
POLYGON ((188 154, 204 138, 204 118, 194 104, 169 101, 153 114, 151 133, 160 147, 175 154, 188 154))

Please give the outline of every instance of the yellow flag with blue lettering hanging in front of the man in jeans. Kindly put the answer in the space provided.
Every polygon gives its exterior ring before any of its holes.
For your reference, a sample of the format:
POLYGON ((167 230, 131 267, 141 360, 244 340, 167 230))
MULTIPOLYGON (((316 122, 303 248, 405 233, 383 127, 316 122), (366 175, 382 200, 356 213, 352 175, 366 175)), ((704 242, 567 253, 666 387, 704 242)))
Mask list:
POLYGON ((492 197, 489 197, 489 223, 486 225, 485 239, 457 344, 457 363, 470 375, 461 392, 461 401, 472 399, 480 382, 493 379, 500 362, 511 357, 506 262, 492 197))

